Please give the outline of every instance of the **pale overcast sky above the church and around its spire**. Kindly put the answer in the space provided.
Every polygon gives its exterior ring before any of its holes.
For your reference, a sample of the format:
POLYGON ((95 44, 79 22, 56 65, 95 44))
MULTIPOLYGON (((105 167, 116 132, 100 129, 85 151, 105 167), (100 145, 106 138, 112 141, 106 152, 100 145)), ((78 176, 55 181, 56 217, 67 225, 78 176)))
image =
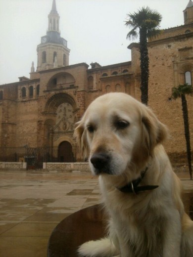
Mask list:
MULTIPOLYGON (((61 37, 68 41, 69 64, 108 65, 131 60, 127 13, 142 6, 159 11, 161 29, 184 24, 189 0, 56 0, 61 37)), ((0 85, 29 78, 37 67, 36 47, 46 35, 52 0, 0 0, 0 85)), ((135 42, 138 42, 136 40, 135 42)))

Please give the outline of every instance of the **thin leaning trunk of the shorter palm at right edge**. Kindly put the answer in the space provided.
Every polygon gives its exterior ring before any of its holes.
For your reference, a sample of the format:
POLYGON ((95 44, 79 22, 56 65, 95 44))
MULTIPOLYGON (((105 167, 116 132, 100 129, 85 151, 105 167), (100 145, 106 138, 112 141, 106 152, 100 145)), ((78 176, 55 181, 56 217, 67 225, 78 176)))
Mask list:
POLYGON ((187 107, 186 96, 184 94, 181 94, 181 100, 182 100, 182 111, 183 111, 183 118, 184 118, 184 131, 185 131, 185 138, 186 138, 189 172, 190 172, 190 178, 193 179, 188 107, 187 107))

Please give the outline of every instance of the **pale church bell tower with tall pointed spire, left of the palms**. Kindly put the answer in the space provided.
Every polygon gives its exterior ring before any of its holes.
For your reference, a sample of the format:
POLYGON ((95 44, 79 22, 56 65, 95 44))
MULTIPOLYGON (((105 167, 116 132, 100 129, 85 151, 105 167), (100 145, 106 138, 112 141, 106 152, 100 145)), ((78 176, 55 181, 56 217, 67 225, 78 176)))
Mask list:
POLYGON ((48 14, 47 35, 41 37, 41 43, 37 46, 37 71, 69 65, 70 49, 67 47, 67 41, 60 37, 59 19, 56 2, 53 0, 51 11, 48 14))

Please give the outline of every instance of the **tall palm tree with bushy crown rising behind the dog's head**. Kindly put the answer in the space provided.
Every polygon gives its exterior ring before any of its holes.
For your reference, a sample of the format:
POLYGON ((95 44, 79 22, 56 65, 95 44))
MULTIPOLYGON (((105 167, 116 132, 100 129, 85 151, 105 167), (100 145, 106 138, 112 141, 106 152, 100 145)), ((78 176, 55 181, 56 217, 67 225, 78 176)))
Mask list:
POLYGON ((156 10, 151 10, 148 6, 142 7, 138 12, 127 14, 125 25, 132 30, 127 34, 127 39, 140 37, 140 60, 141 60, 141 99, 147 105, 148 102, 148 77, 149 58, 147 50, 147 38, 156 37, 160 34, 160 22, 162 16, 156 10))

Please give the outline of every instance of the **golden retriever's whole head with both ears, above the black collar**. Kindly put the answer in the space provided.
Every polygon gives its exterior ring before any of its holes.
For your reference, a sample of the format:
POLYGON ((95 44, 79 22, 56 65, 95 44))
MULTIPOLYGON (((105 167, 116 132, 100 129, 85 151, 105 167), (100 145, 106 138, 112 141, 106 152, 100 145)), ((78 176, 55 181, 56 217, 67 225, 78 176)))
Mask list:
POLYGON ((153 112, 124 93, 95 99, 75 129, 75 137, 94 174, 122 174, 144 167, 167 135, 153 112))

